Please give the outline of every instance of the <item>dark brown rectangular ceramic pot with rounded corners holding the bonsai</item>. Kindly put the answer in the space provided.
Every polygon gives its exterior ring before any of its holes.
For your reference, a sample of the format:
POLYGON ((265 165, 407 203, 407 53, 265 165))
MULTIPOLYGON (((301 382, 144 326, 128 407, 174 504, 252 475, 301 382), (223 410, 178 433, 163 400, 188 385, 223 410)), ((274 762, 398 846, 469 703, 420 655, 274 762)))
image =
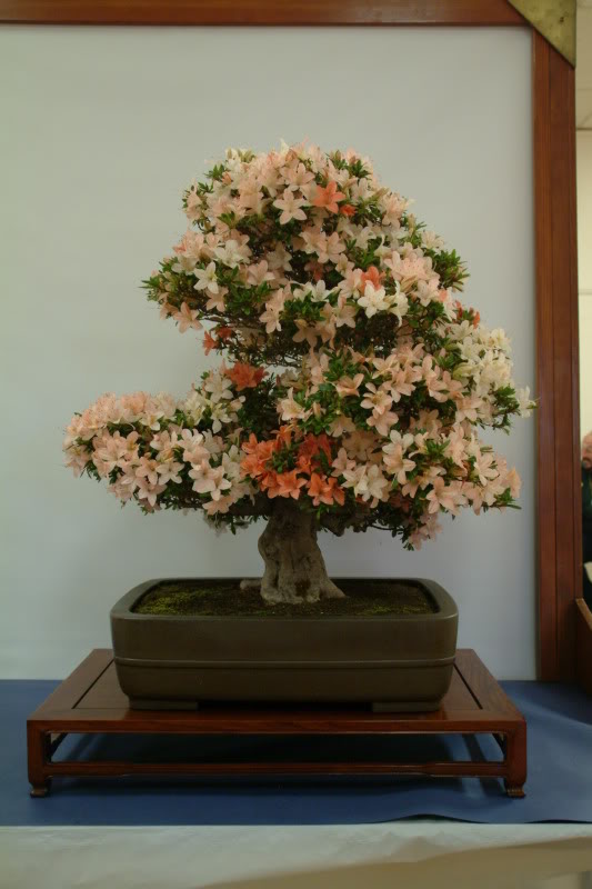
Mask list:
POLYGON ((298 701, 428 711, 438 709, 450 686, 458 610, 431 580, 402 581, 429 598, 431 610, 421 615, 278 618, 134 611, 163 582, 141 583, 111 610, 117 673, 132 708, 298 701))

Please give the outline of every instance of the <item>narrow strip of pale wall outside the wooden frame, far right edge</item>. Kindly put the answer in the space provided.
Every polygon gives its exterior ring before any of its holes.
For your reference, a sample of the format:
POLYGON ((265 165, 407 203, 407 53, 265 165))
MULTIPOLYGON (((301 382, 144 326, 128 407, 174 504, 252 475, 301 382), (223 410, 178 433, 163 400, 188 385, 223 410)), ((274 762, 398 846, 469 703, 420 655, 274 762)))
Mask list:
POLYGON ((592 432, 592 131, 576 133, 578 287, 580 291, 580 427, 592 432))

